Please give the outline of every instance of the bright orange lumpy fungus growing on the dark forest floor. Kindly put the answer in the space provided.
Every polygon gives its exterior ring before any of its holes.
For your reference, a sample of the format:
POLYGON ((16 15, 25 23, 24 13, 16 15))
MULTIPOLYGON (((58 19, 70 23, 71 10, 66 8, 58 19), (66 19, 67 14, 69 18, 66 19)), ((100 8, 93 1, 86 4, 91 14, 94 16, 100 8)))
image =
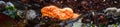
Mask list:
POLYGON ((42 16, 55 17, 60 20, 77 18, 79 15, 73 13, 71 8, 58 8, 56 6, 47 6, 41 9, 42 16))

